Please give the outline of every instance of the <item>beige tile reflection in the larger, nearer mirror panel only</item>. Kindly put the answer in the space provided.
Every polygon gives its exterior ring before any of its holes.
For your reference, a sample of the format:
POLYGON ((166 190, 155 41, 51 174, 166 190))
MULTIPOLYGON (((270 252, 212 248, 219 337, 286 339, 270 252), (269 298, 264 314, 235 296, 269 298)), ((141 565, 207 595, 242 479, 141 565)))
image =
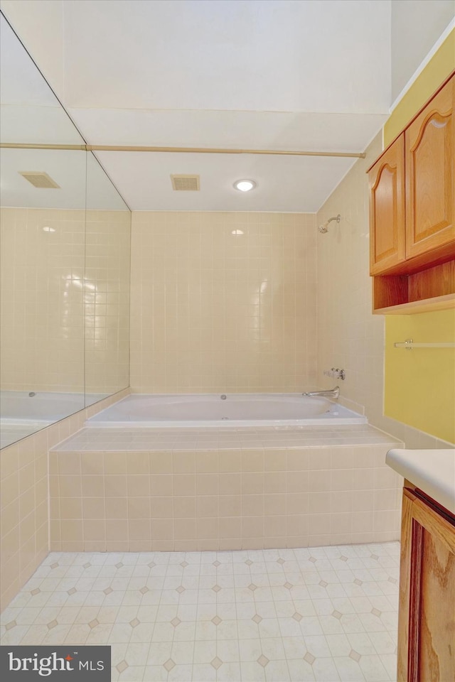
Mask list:
POLYGON ((82 393, 85 211, 2 207, 1 251, 1 388, 82 393))

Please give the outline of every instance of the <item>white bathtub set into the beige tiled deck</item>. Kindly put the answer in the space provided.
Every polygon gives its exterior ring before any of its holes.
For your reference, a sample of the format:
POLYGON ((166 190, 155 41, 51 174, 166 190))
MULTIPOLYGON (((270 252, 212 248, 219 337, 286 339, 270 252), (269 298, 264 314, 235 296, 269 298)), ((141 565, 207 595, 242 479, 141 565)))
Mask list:
POLYGON ((87 419, 85 426, 327 426, 367 419, 325 398, 301 394, 132 394, 87 419))

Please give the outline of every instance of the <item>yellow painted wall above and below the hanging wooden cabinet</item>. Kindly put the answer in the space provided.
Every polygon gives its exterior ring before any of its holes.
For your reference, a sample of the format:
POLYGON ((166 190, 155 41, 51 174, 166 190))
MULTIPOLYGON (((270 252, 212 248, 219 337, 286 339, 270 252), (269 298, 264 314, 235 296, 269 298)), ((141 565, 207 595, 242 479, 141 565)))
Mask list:
MULTIPOLYGON (((455 30, 417 77, 384 126, 384 146, 455 68, 455 30)), ((455 350, 393 347, 415 342, 455 341, 455 311, 385 318, 385 414, 437 438, 455 442, 455 350)))

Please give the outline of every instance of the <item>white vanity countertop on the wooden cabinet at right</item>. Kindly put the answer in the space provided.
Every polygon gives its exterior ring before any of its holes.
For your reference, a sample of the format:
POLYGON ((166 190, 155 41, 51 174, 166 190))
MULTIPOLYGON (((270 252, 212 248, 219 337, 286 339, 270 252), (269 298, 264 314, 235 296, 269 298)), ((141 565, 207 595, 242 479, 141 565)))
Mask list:
POLYGON ((389 450, 385 463, 455 514, 455 449, 389 450))

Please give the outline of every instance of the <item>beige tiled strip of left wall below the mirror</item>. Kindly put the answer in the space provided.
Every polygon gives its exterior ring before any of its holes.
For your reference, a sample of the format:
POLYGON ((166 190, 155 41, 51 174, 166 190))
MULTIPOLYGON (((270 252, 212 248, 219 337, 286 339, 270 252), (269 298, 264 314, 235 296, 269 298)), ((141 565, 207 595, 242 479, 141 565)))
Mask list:
POLYGON ((127 394, 129 389, 120 391, 1 450, 1 609, 49 551, 49 448, 82 428, 85 419, 127 394))

